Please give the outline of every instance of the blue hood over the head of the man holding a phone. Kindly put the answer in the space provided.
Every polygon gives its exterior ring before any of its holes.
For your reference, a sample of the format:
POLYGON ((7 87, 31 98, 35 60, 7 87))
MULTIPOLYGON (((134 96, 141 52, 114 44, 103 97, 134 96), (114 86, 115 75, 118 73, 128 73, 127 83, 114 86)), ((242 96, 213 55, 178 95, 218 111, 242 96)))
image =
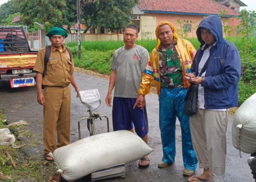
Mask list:
POLYGON ((211 15, 205 17, 199 24, 196 35, 197 39, 201 43, 201 46, 204 45, 204 41, 201 36, 201 28, 209 30, 215 37, 217 44, 223 41, 223 31, 222 31, 222 23, 221 19, 217 15, 211 15))

